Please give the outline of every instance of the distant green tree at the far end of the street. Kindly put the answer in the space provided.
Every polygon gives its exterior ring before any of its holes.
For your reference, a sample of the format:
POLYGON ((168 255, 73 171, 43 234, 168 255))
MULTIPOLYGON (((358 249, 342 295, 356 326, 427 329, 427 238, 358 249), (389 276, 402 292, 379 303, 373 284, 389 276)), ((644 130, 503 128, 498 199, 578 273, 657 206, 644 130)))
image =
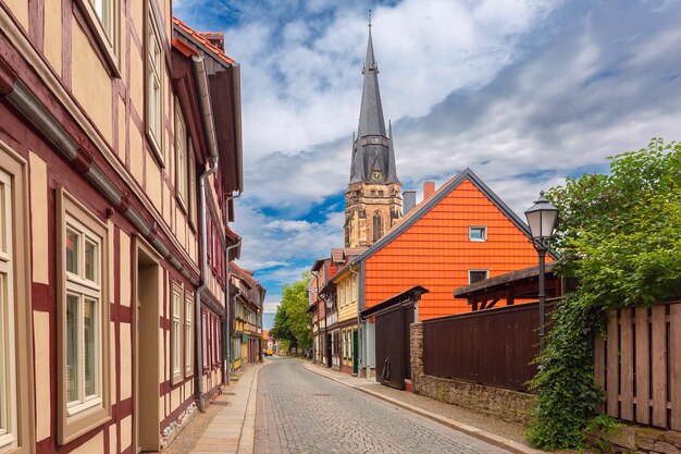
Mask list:
POLYGON ((308 309, 308 285, 312 277, 304 273, 299 281, 284 285, 282 302, 276 308, 271 335, 280 341, 288 341, 293 348, 310 348, 310 315, 308 309))

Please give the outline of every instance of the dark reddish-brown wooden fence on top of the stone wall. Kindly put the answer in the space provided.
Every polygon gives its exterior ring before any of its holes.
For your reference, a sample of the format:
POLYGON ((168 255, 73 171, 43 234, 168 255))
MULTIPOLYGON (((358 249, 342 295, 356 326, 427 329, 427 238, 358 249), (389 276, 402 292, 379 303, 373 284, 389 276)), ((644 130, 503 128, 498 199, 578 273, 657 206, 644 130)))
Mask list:
POLYGON ((536 373, 531 363, 538 353, 538 323, 537 303, 425 320, 423 372, 528 391, 536 373))

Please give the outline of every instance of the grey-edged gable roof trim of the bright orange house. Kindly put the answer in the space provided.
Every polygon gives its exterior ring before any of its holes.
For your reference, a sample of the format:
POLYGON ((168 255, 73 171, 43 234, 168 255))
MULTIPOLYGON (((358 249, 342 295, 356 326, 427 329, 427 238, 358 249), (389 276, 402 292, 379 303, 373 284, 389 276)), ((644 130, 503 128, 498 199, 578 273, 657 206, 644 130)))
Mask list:
MULTIPOLYGON (((439 204, 449 193, 456 189, 461 183, 469 180, 478 187, 528 238, 532 238, 528 225, 511 210, 504 200, 502 200, 471 169, 465 169, 456 176, 442 185, 431 197, 422 200, 419 205, 411 209, 403 217, 381 240, 369 247, 363 254, 352 260, 352 263, 359 263, 362 260, 376 254, 384 246, 399 236, 403 232, 413 225, 434 206, 439 204)), ((549 253, 550 254, 550 253, 549 253)), ((553 255, 552 255, 553 257, 553 255)))

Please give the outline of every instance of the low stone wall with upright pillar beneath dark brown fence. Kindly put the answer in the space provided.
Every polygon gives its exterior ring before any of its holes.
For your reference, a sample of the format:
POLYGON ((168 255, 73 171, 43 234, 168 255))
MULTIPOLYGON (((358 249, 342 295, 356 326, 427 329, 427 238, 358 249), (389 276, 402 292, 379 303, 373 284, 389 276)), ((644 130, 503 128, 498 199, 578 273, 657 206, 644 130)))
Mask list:
POLYGON ((423 372, 423 324, 411 324, 411 382, 413 392, 459 405, 506 421, 528 422, 534 406, 532 394, 426 376, 423 372))

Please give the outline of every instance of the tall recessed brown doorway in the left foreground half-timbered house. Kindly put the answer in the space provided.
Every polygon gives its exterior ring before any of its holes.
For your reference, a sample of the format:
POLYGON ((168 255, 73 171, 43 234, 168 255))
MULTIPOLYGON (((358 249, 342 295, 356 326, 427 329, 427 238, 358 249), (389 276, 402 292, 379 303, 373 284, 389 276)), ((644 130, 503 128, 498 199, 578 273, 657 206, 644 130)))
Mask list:
POLYGON ((135 279, 135 445, 158 452, 159 421, 159 299, 161 267, 151 249, 138 243, 135 279), (144 367, 143 367, 144 365, 144 367))

